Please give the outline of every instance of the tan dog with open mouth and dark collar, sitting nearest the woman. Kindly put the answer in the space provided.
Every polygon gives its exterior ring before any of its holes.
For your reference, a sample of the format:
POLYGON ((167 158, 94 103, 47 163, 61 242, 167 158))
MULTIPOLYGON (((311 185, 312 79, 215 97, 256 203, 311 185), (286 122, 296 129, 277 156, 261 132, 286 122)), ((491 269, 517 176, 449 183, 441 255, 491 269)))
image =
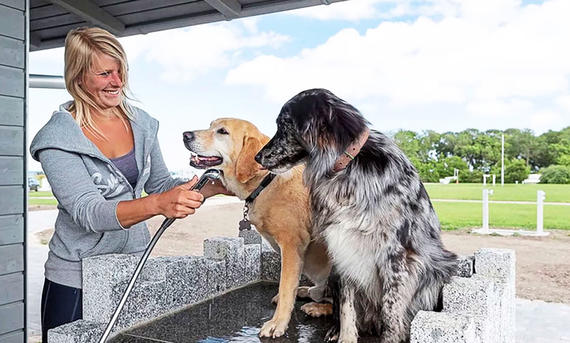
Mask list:
MULTIPOLYGON (((245 120, 222 118, 207 130, 184 133, 184 145, 194 154, 190 164, 196 168, 220 169, 222 182, 237 197, 246 199, 268 171, 254 160, 255 154, 269 141, 257 127, 245 120)), ((295 303, 295 295, 323 299, 330 272, 326 248, 312 241, 308 190, 303 186, 302 167, 277 175, 249 206, 250 221, 259 233, 281 251, 277 309, 259 335, 279 337, 285 333, 295 303), (315 283, 297 287, 303 272, 315 283)), ((308 303, 301 308, 311 316, 330 314, 330 304, 308 303)))

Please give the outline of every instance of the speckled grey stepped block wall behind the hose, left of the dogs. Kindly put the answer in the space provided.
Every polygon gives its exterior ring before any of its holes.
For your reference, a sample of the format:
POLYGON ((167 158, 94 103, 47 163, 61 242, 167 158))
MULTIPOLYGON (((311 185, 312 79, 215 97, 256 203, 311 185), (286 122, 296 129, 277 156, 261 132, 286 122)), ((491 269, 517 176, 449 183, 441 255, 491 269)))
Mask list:
MULTIPOLYGON (((139 259, 140 256, 133 255, 84 259, 83 319, 50 330, 48 341, 97 342, 139 259)), ((243 231, 237 238, 207 239, 203 256, 149 258, 113 332, 250 283, 277 281, 279 270, 279 254, 262 244, 257 231, 243 231)))

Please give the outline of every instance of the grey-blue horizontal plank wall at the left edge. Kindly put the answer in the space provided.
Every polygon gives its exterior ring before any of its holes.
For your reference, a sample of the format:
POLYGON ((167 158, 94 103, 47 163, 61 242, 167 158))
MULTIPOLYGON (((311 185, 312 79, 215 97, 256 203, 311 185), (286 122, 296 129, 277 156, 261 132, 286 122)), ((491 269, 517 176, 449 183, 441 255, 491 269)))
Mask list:
POLYGON ((25 342, 26 0, 0 0, 0 342, 25 342))

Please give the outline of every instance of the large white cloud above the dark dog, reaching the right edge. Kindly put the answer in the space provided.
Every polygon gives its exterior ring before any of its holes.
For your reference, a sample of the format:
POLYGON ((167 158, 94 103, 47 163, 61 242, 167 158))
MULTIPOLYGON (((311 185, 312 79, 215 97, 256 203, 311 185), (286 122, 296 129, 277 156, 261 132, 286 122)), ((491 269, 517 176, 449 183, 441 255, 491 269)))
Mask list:
POLYGON ((570 1, 432 4, 446 17, 383 22, 363 34, 344 29, 296 56, 258 56, 233 68, 226 82, 262 87, 275 102, 318 86, 396 106, 469 105, 470 113, 516 112, 531 108, 535 97, 567 94, 570 1))

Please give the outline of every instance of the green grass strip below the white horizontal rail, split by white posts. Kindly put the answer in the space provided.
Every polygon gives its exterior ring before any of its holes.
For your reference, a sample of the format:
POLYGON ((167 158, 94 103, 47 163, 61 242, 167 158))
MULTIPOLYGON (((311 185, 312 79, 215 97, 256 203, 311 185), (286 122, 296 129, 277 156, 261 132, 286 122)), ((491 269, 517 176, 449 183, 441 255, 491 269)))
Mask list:
MULTIPOLYGON (((483 224, 481 204, 433 202, 433 207, 444 230, 483 224)), ((489 204, 489 226, 535 230, 536 206, 489 204)), ((544 229, 570 230, 570 206, 544 205, 544 229)))

